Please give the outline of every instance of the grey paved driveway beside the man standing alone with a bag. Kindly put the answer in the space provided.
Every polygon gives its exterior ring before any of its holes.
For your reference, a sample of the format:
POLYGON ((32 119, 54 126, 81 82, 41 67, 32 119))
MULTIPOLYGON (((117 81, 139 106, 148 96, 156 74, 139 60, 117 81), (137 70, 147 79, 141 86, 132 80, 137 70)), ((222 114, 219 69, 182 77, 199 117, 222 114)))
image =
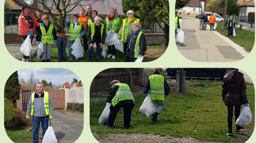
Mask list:
MULTIPOLYGON (((82 133, 84 127, 84 116, 54 110, 54 116, 51 124, 58 143, 74 143, 82 133)), ((40 135, 42 134, 40 133, 40 135)))

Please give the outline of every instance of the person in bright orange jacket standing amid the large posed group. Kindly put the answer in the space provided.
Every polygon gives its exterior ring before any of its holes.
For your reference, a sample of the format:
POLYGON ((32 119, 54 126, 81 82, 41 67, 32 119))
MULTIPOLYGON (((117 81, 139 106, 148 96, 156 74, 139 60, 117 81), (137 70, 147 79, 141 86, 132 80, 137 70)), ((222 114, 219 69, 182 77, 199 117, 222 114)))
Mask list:
POLYGON ((85 15, 85 9, 81 8, 80 10, 80 15, 78 21, 82 23, 84 27, 84 36, 83 36, 83 43, 84 43, 84 53, 88 51, 88 43, 87 43, 87 38, 86 38, 86 25, 88 22, 89 17, 85 15))

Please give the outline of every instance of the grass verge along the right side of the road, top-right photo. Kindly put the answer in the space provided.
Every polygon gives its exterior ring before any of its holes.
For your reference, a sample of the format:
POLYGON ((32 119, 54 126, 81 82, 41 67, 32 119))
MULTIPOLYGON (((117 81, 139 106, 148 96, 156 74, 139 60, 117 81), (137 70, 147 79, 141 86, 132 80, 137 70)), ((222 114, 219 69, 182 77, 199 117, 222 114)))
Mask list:
MULTIPOLYGON (((239 27, 239 25, 236 26, 239 27)), ((237 27, 235 27, 236 37, 229 37, 229 39, 231 39, 236 44, 244 47, 244 50, 250 52, 254 45, 254 32, 239 29, 237 27)), ((228 35, 227 29, 222 29, 222 23, 217 23, 216 31, 218 31, 221 35, 228 35)))

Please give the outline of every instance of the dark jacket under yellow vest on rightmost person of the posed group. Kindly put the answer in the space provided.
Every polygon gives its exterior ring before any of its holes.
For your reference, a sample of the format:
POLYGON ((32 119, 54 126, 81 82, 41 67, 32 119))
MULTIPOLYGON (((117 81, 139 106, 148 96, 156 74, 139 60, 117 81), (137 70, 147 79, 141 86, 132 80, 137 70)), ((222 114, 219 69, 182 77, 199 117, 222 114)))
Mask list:
MULTIPOLYGON (((135 44, 136 44, 136 40, 138 37, 138 34, 140 32, 140 29, 136 32, 131 31, 130 35, 129 35, 129 41, 128 41, 128 47, 129 47, 129 57, 133 57, 134 58, 134 48, 135 48, 135 44)), ((147 43, 146 43, 146 36, 145 34, 141 34, 140 36, 140 52, 139 55, 144 56, 145 55, 145 51, 147 50, 147 43)))

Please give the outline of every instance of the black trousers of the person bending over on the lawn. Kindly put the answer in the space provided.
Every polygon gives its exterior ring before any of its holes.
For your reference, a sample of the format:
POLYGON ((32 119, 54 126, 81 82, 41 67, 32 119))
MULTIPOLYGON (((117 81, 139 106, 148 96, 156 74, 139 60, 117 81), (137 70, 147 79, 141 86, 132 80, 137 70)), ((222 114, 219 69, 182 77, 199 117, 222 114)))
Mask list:
POLYGON ((134 104, 121 104, 116 105, 115 107, 110 107, 110 113, 108 116, 108 126, 113 126, 116 115, 119 111, 119 109, 124 109, 124 127, 129 128, 131 123, 131 110, 134 108, 134 104))

